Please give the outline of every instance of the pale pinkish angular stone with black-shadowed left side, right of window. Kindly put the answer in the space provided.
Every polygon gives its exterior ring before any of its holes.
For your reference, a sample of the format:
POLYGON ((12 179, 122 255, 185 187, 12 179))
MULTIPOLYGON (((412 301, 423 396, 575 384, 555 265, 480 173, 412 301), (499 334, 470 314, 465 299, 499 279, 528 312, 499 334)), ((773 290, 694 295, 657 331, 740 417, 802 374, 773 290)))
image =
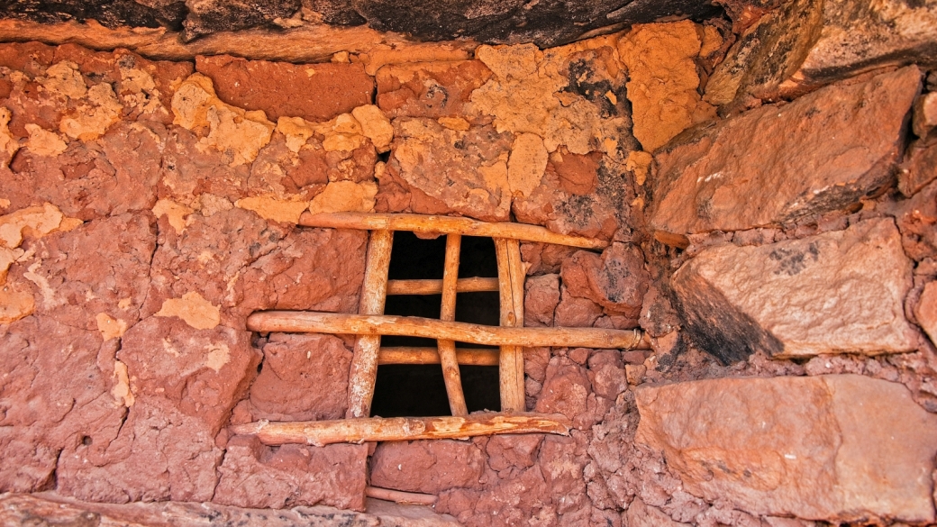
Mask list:
POLYGON ((903 308, 911 270, 893 221, 871 219, 761 247, 708 248, 673 287, 692 340, 723 362, 756 351, 902 353, 917 346, 903 308))

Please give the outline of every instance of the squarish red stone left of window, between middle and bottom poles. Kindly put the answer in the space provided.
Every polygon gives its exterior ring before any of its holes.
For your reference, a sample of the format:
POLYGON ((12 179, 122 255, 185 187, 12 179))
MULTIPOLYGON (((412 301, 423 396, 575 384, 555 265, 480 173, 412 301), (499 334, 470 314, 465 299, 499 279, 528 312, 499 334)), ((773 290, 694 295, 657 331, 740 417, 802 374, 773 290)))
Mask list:
POLYGON ((350 364, 350 350, 334 336, 272 334, 250 386, 251 420, 344 418, 350 364))

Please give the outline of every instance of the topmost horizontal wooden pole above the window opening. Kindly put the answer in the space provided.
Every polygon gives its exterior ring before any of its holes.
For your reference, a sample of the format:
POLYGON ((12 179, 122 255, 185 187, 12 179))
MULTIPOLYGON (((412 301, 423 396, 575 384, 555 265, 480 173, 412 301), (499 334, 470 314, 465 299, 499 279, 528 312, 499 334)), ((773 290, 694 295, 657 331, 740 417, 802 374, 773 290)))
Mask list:
POLYGON ((411 231, 413 233, 463 234, 510 238, 526 242, 541 242, 580 248, 606 248, 608 242, 593 238, 570 236, 548 231, 538 225, 512 223, 508 221, 486 223, 470 218, 451 216, 424 216, 421 214, 368 214, 336 212, 312 215, 303 213, 299 224, 305 227, 327 227, 333 229, 364 229, 367 231, 411 231))

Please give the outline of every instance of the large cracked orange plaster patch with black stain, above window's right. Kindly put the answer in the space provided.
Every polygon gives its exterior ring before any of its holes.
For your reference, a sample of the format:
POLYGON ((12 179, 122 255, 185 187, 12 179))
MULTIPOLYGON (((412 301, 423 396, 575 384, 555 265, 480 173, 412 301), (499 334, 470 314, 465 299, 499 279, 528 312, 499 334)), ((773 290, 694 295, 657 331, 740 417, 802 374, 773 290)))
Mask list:
POLYGON ((565 145, 573 154, 620 157, 631 121, 617 109, 624 70, 616 46, 614 36, 543 52, 533 44, 480 46, 475 57, 494 76, 472 92, 473 111, 492 115, 498 132, 540 136, 547 152, 565 145))

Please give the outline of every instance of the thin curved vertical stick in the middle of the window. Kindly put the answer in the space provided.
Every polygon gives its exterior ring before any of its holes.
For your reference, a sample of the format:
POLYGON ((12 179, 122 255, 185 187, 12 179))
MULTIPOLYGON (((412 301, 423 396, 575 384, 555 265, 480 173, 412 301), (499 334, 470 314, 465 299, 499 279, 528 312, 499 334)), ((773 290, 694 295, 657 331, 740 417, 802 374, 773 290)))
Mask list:
MULTIPOLYGON (((459 277, 459 251, 462 247, 462 234, 446 236, 446 265, 442 274, 442 307, 439 309, 440 321, 455 320, 455 287, 459 277)), ((449 396, 449 408, 453 415, 468 415, 466 398, 462 393, 462 376, 459 363, 455 358, 455 341, 438 340, 439 362, 442 364, 442 378, 446 381, 446 394, 449 396)))

